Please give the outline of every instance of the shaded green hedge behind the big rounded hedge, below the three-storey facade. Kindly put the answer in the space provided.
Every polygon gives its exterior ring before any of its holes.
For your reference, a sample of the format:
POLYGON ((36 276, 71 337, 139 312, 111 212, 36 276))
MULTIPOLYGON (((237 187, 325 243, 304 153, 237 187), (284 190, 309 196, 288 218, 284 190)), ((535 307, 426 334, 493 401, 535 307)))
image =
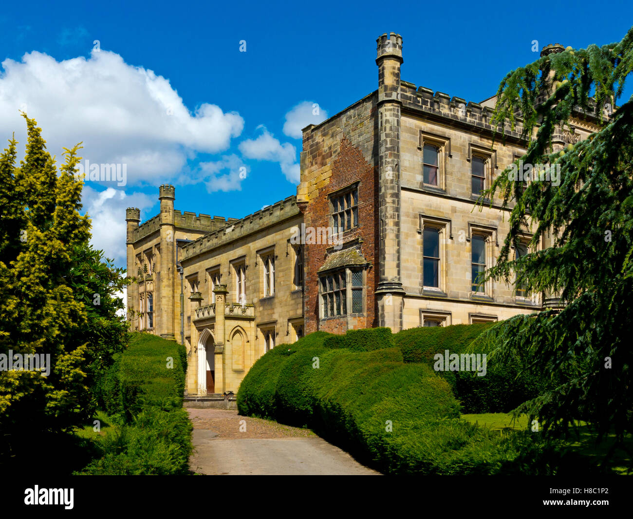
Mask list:
POLYGON ((453 388, 463 413, 507 413, 548 388, 549 381, 529 369, 527 358, 496 362, 491 352, 472 346, 473 340, 496 323, 454 324, 434 328, 411 328, 394 334, 405 362, 420 362, 433 368, 436 354, 475 353, 487 355, 486 375, 475 371, 437 371, 453 388), (477 350, 475 350, 477 349, 477 350))

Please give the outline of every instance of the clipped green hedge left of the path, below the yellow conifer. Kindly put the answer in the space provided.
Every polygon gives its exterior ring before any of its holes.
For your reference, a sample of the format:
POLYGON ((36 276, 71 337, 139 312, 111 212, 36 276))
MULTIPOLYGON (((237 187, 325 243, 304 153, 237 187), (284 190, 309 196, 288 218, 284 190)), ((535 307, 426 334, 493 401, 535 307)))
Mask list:
POLYGON ((192 425, 182 409, 186 358, 175 341, 132 334, 99 388, 101 406, 120 428, 101 440, 101 457, 81 473, 187 473, 192 425))

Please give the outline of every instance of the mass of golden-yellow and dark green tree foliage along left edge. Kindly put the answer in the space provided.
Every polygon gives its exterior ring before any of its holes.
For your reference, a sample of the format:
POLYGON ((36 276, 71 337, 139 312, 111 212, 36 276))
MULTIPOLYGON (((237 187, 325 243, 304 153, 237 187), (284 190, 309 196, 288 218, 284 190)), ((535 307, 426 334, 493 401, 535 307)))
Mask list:
POLYGON ((91 222, 79 214, 79 145, 65 148, 58 173, 41 129, 23 115, 20 166, 15 138, 0 155, 0 354, 49 355, 50 373, 2 366, 0 462, 90 418, 99 375, 127 342, 114 297, 127 284, 123 270, 89 245, 91 222))

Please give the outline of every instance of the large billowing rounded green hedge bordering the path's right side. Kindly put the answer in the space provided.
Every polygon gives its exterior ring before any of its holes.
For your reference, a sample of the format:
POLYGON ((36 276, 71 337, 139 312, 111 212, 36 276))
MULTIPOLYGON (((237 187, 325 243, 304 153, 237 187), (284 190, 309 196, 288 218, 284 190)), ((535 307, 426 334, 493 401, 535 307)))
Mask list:
POLYGON ((517 456, 461 420, 450 385, 428 366, 405 364, 397 348, 328 343, 308 335, 261 357, 237 393, 240 414, 311 426, 387 473, 496 473, 517 456))

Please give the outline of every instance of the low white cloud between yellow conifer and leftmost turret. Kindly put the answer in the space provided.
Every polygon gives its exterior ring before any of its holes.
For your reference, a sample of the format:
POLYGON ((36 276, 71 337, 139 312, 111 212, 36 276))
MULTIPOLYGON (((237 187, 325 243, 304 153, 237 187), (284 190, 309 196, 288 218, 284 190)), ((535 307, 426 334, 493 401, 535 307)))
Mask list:
POLYGON ((122 189, 114 188, 96 191, 85 185, 82 204, 92 220, 91 243, 94 248, 103 250, 105 257, 113 258, 116 265, 125 267, 125 209, 138 207, 142 211, 152 207, 155 202, 156 200, 144 193, 127 195, 122 189))

